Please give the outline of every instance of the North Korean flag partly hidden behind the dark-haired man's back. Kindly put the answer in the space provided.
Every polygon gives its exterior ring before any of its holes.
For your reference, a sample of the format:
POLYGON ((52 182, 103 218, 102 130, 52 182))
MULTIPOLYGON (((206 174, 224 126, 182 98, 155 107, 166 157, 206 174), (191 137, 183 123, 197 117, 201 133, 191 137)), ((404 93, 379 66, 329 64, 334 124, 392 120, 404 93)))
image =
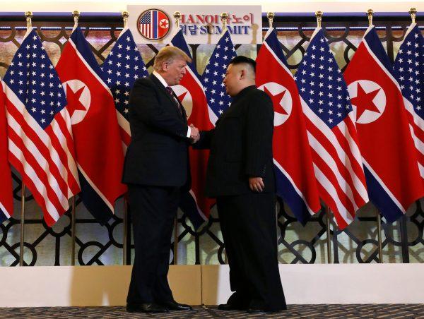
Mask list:
POLYGON ((299 222, 321 209, 298 87, 270 28, 257 56, 256 83, 273 101, 276 192, 299 222))

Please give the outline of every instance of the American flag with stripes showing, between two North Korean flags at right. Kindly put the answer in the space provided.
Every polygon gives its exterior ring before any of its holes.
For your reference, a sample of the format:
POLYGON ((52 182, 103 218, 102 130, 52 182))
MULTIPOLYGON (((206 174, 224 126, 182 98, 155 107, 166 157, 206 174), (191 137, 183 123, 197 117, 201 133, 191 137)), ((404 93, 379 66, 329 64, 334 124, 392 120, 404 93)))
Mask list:
POLYGON ((319 195, 343 229, 368 195, 348 90, 321 28, 312 35, 296 81, 319 195))

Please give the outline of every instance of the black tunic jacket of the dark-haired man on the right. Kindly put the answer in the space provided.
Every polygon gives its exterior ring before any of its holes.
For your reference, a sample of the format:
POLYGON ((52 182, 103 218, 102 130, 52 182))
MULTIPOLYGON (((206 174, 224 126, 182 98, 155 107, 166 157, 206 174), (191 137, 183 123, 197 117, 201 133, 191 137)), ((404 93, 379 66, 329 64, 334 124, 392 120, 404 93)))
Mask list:
POLYGON ((248 193, 249 177, 261 177, 264 192, 275 191, 272 157, 273 105, 254 85, 232 101, 216 128, 201 132, 195 148, 210 148, 206 195, 248 193))

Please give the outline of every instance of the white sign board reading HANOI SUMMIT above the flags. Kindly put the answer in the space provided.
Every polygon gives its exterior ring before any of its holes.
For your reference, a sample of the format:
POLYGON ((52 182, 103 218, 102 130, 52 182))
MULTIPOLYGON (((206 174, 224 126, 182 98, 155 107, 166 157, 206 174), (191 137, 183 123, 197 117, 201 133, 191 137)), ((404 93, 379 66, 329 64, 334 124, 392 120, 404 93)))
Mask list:
POLYGON ((129 5, 128 25, 136 43, 169 43, 175 32, 174 13, 181 13, 180 27, 189 44, 218 42, 228 13, 228 31, 234 44, 262 42, 261 6, 155 6, 129 5))

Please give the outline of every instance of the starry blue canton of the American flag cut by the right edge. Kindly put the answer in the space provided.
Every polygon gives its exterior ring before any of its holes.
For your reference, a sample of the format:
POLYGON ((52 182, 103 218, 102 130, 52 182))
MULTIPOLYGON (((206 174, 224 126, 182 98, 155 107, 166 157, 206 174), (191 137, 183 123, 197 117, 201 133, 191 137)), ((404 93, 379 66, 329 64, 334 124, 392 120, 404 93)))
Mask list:
POLYGON ((413 105, 413 109, 420 118, 424 119, 423 88, 424 83, 424 39, 418 25, 405 37, 399 48, 394 73, 401 85, 402 95, 413 105))

